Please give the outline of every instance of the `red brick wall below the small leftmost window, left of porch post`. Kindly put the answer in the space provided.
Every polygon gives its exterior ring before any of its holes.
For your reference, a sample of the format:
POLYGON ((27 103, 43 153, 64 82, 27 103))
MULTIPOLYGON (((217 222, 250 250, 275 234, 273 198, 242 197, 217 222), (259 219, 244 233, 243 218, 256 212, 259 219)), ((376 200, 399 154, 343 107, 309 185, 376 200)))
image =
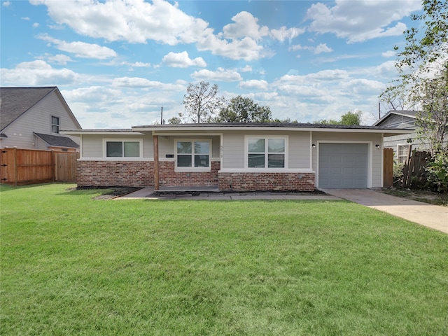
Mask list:
POLYGON ((78 161, 79 187, 154 186, 154 162, 78 161))

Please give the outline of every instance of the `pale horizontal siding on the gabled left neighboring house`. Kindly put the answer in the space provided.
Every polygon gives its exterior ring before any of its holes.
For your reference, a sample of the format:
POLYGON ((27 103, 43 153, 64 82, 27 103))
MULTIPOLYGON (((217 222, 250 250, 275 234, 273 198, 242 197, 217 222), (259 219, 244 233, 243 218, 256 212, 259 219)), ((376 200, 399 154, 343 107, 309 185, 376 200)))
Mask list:
MULTIPOLYGON (((65 109, 56 92, 51 92, 29 111, 13 121, 2 131, 8 138, 1 140, 1 147, 48 149, 44 141, 37 141, 33 132, 52 134, 51 117, 59 118, 59 130, 76 130, 78 125, 65 109)), ((57 135, 57 134, 55 134, 57 135)), ((64 136, 67 137, 67 136, 64 136)), ((70 137, 76 144, 80 143, 78 137, 70 137)))

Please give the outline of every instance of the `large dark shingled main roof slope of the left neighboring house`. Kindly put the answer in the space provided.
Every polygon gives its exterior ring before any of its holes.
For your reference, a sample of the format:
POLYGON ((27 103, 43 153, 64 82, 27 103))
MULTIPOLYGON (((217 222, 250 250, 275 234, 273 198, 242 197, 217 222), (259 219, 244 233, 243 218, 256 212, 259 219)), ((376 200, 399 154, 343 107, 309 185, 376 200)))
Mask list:
POLYGON ((0 87, 1 120, 3 130, 57 87, 0 87))

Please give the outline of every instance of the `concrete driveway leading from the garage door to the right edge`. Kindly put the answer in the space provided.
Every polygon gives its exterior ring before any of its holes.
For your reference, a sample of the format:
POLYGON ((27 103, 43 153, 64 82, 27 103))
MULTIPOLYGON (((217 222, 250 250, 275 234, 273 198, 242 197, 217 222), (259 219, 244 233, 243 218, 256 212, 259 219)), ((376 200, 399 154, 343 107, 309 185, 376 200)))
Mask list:
POLYGON ((323 192, 448 233, 448 207, 407 200, 368 189, 325 189, 323 192))

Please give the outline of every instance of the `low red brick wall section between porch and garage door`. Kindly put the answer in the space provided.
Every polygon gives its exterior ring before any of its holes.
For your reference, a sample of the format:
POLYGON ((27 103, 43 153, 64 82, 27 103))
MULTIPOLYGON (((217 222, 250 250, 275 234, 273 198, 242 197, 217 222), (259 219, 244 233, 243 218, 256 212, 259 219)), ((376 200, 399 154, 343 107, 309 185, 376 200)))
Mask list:
POLYGON ((314 180, 314 173, 219 173, 219 189, 223 191, 314 191, 314 180))

